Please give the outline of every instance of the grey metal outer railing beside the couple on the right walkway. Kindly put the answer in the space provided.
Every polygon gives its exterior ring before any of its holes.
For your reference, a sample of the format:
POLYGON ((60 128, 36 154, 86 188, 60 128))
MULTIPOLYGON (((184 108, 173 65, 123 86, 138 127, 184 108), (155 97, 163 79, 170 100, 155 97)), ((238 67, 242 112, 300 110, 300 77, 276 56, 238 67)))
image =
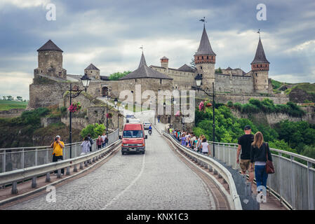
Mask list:
MULTIPOLYGON (((213 142, 208 141, 213 153, 213 142)), ((234 169, 238 144, 215 142, 215 157, 234 169)), ((303 155, 270 148, 275 173, 269 174, 267 189, 291 209, 314 210, 315 160, 303 155)))

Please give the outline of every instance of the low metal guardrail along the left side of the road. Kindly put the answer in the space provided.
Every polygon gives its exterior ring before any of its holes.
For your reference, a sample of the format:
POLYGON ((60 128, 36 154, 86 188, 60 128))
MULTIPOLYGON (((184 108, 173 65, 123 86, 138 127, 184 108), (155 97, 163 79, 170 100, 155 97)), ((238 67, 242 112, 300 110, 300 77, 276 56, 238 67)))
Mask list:
POLYGON ((83 163, 88 166, 88 163, 95 162, 102 158, 106 153, 112 151, 116 146, 119 146, 121 140, 117 140, 109 146, 88 153, 86 155, 81 155, 77 158, 72 158, 68 160, 61 160, 58 162, 51 162, 46 165, 39 165, 36 167, 29 167, 25 169, 13 170, 11 172, 5 172, 0 174, 0 186, 12 183, 12 194, 18 193, 18 181, 25 179, 32 179, 32 188, 36 188, 36 178, 38 176, 46 174, 46 182, 51 182, 50 174, 55 170, 58 170, 58 178, 61 178, 61 169, 67 169, 66 175, 69 175, 69 168, 73 167, 73 172, 78 172, 76 165, 80 165, 79 169, 83 169, 83 163), (92 161, 91 161, 92 160, 92 161))

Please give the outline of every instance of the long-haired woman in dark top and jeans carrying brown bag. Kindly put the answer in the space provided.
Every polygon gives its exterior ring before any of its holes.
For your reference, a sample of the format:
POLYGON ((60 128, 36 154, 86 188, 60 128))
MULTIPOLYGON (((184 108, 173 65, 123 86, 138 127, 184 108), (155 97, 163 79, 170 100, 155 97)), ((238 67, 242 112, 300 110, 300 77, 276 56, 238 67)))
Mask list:
MULTIPOLYGON (((270 153, 269 146, 264 142, 262 132, 257 132, 254 141, 250 146, 250 170, 253 171, 253 164, 255 163, 255 179, 257 188, 259 186, 267 186, 268 174, 266 172, 266 162, 272 161, 272 154, 270 153)), ((259 192, 258 192, 259 193, 259 192)), ((262 202, 266 202, 266 196, 262 196, 262 202)))

